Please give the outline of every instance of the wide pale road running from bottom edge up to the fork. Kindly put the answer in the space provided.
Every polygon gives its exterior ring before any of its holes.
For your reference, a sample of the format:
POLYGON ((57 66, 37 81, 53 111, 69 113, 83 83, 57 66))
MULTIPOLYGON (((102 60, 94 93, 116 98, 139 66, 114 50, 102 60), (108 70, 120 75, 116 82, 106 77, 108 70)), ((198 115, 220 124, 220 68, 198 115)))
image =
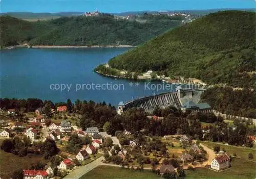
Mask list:
POLYGON ((86 174, 87 172, 91 171, 92 169, 96 168, 97 166, 102 165, 103 163, 101 161, 103 159, 104 159, 104 157, 101 156, 100 158, 96 159, 95 161, 71 171, 64 178, 65 179, 79 179, 82 175, 86 174))

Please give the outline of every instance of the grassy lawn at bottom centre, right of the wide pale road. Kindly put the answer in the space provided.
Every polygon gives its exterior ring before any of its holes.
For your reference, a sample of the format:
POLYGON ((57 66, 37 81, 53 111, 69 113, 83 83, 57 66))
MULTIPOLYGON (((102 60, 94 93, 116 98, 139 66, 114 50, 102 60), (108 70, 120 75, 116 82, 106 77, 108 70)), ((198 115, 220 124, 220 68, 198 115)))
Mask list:
POLYGON ((98 166, 84 174, 80 179, 160 179, 161 177, 151 171, 136 171, 112 166, 98 166))

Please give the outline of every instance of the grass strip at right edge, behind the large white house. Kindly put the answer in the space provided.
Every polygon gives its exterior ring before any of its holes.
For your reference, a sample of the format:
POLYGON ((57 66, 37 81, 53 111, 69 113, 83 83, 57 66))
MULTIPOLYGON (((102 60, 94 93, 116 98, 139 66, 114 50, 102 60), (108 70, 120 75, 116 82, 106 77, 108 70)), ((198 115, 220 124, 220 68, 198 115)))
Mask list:
POLYGON ((233 155, 234 153, 237 154, 238 157, 241 157, 243 159, 248 159, 248 154, 251 152, 253 154, 254 159, 253 161, 256 161, 256 149, 255 148, 247 148, 247 147, 237 147, 232 145, 225 145, 215 142, 208 142, 208 141, 201 141, 202 144, 205 144, 206 146, 210 148, 214 148, 215 145, 220 145, 220 149, 225 148, 226 152, 229 155, 233 155))

